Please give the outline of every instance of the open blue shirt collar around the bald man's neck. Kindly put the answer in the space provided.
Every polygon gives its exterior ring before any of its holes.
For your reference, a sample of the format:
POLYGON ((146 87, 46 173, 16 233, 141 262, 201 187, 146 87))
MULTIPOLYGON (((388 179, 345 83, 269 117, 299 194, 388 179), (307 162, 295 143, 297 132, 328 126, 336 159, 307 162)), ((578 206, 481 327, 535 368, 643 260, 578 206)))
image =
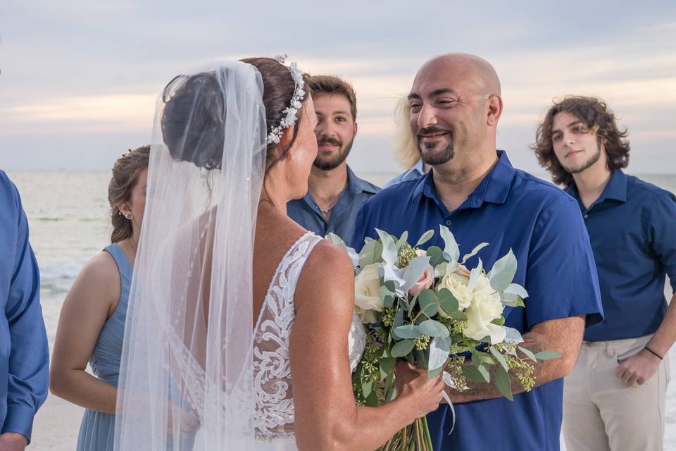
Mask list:
MULTIPOLYGON (((492 204, 504 204, 514 178, 515 169, 507 158, 506 152, 498 150, 498 161, 492 170, 484 177, 479 186, 470 194, 470 197, 463 202, 470 202, 472 208, 481 206, 484 202, 492 204)), ((411 202, 424 194, 426 197, 437 199, 437 190, 434 189, 434 171, 427 172, 425 177, 420 178, 418 185, 415 185, 411 202)))

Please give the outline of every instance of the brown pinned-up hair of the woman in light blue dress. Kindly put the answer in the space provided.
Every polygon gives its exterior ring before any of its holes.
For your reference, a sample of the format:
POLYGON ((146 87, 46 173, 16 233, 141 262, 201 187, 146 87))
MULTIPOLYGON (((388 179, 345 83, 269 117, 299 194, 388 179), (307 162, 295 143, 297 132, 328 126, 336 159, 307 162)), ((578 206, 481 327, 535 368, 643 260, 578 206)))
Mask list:
POLYGON ((108 184, 108 203, 111 204, 113 233, 111 242, 120 242, 132 236, 132 221, 121 214, 118 205, 129 202, 132 190, 139 180, 139 174, 148 168, 150 146, 130 150, 118 158, 113 165, 113 178, 108 184))

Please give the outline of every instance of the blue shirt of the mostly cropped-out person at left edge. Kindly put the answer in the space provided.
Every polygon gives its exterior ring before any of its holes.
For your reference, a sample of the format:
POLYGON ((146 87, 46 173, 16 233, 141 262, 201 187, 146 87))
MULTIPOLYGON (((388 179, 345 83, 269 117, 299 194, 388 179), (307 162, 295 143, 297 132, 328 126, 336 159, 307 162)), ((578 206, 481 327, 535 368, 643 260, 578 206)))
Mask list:
POLYGON ((39 294, 39 270, 21 199, 0 171, 0 433, 20 433, 28 440, 49 384, 39 294))

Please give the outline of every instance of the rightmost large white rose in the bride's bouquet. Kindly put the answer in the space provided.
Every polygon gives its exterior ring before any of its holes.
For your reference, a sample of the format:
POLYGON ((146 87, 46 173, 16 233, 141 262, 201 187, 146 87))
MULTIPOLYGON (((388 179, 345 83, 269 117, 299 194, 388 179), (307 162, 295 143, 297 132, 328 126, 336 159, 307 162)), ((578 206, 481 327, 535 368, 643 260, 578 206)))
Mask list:
POLYGON ((502 342, 506 336, 506 330, 502 326, 493 324, 491 321, 500 318, 503 305, 500 302, 500 295, 482 280, 477 283, 474 292, 474 299, 470 307, 465 309, 467 315, 467 327, 463 330, 465 336, 473 340, 481 340, 489 336, 491 344, 502 342))

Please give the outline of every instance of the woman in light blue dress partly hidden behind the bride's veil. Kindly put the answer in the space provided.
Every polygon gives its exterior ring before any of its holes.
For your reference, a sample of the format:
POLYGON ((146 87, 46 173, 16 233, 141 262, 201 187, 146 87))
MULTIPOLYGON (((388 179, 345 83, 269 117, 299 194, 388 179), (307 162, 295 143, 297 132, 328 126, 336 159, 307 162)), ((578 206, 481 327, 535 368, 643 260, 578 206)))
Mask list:
POLYGON ((149 147, 118 159, 108 185, 112 244, 84 265, 65 297, 51 359, 51 393, 84 407, 77 450, 113 450, 127 299, 146 199, 149 147), (94 375, 87 373, 87 362, 94 375))

